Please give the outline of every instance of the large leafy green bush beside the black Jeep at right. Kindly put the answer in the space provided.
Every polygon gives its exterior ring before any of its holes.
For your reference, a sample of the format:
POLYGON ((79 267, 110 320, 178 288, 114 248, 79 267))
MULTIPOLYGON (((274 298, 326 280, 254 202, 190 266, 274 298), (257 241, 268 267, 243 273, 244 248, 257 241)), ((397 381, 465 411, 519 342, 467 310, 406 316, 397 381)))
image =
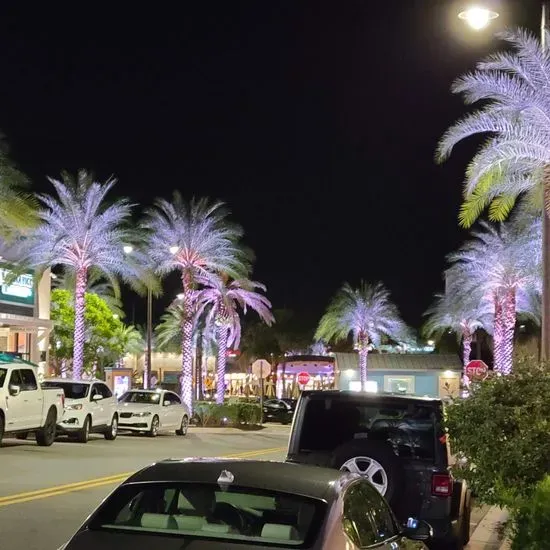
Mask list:
POLYGON ((548 395, 547 366, 523 358, 511 375, 475 385, 446 408, 451 448, 468 464, 453 469, 480 501, 513 513, 550 472, 548 395))

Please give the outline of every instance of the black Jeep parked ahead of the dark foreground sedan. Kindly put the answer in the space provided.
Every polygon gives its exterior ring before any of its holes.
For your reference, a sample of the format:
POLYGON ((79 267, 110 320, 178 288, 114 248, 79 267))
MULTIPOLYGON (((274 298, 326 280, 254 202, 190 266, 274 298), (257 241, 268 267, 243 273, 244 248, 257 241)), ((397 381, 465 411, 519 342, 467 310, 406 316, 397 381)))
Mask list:
POLYGON ((365 475, 405 523, 434 530, 431 548, 470 539, 471 493, 451 477, 439 399, 351 391, 304 391, 287 461, 365 475))

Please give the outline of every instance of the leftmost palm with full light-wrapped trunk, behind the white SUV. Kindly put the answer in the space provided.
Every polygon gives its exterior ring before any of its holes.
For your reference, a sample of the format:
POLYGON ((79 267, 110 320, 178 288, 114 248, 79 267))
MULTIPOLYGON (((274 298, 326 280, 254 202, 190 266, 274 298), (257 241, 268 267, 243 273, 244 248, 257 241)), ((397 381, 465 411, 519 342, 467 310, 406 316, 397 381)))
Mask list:
POLYGON ((76 177, 62 173, 62 179, 49 178, 57 198, 40 195, 40 225, 27 241, 26 261, 36 267, 62 266, 75 274, 75 325, 73 376, 82 376, 85 340, 85 292, 92 268, 109 279, 121 275, 130 280, 133 273, 122 244, 130 241, 124 224, 131 206, 126 200, 106 205, 114 179, 93 180, 80 170, 76 177))

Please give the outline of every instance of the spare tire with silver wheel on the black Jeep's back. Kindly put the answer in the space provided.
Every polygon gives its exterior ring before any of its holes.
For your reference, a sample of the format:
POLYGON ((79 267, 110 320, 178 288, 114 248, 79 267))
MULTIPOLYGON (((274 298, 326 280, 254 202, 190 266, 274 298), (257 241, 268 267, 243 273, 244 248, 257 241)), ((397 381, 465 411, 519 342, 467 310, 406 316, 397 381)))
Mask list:
POLYGON ((365 476, 391 502, 404 481, 404 469, 389 444, 381 441, 349 441, 337 447, 331 466, 365 476))

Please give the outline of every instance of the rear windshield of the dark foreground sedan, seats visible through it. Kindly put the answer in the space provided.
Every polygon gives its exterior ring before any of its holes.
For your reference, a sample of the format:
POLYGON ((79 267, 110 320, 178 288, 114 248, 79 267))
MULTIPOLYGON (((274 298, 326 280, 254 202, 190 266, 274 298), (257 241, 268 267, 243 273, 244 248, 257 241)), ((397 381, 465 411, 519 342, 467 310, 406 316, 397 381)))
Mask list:
POLYGON ((123 485, 109 497, 89 529, 155 534, 159 542, 160 536, 172 536, 184 545, 193 539, 218 539, 301 548, 314 542, 325 508, 317 499, 266 489, 134 483, 123 485))

